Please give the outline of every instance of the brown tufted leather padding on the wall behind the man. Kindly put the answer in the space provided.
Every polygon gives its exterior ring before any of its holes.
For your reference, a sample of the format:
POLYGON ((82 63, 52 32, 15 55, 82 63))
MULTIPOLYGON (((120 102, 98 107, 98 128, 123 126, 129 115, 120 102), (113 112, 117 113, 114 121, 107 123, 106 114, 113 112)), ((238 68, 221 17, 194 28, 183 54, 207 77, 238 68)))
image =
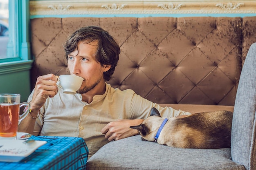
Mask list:
POLYGON ((243 60, 256 42, 256 17, 31 19, 32 87, 40 75, 69 74, 63 42, 89 25, 109 31, 121 48, 108 83, 159 104, 234 106, 243 60))

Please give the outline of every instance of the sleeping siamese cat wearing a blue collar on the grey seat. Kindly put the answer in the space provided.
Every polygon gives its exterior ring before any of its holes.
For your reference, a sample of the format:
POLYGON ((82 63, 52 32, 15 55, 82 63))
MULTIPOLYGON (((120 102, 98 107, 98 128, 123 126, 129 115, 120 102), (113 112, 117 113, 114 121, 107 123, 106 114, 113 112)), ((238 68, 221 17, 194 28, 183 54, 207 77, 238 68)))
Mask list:
POLYGON ((175 148, 230 148, 232 118, 232 112, 223 110, 166 119, 152 108, 150 117, 130 128, 139 130, 141 140, 175 148))

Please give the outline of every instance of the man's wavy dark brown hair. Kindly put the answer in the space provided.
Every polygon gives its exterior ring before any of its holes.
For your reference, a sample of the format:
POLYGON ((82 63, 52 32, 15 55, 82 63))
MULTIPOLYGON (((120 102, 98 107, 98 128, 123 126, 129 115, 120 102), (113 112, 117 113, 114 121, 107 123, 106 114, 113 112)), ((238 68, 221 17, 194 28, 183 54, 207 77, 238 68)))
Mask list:
POLYGON ((103 65, 111 65, 110 69, 103 73, 105 81, 111 79, 117 62, 119 60, 120 47, 114 38, 109 35, 108 31, 103 30, 99 26, 82 27, 71 33, 64 43, 65 56, 68 60, 68 54, 78 50, 78 42, 90 43, 98 42, 95 60, 103 65))

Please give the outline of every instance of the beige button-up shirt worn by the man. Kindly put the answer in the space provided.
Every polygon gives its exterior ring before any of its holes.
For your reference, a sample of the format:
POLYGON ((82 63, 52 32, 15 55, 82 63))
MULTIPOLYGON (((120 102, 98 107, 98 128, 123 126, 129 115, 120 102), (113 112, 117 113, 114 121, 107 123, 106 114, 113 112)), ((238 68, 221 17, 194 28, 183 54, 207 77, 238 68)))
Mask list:
MULTIPOLYGON (((32 93, 28 101, 31 101, 32 93)), ((153 107, 159 110, 162 117, 167 118, 190 114, 173 108, 162 108, 132 90, 120 91, 110 84, 106 84, 106 92, 95 95, 90 104, 82 101, 81 94, 65 94, 59 88, 58 94, 48 97, 40 109, 34 132, 45 136, 82 137, 91 157, 109 142, 101 133, 106 124, 118 119, 146 119, 153 107)))

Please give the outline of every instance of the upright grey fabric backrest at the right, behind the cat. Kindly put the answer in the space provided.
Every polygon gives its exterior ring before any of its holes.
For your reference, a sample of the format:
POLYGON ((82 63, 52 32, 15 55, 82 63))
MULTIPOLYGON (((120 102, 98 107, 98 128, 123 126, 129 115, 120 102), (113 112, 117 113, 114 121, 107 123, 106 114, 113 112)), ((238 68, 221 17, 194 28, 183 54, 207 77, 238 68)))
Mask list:
POLYGON ((256 43, 252 44, 242 69, 236 93, 231 132, 232 160, 256 170, 256 43))

